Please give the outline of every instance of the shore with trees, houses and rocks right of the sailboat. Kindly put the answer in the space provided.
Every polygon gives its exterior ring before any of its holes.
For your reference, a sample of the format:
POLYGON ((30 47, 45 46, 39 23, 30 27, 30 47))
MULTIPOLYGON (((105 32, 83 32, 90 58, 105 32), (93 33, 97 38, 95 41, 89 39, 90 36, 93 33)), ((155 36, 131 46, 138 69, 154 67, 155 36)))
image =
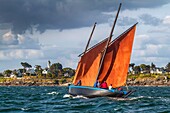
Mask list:
POLYGON ((164 67, 134 63, 129 64, 128 81, 131 85, 165 85, 170 80, 170 63, 164 67))

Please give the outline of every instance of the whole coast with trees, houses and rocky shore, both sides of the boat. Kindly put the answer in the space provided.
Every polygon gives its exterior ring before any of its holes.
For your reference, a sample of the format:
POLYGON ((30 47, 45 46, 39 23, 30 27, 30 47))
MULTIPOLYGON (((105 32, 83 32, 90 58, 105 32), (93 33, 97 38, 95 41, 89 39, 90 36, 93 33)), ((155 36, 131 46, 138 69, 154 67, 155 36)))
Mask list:
MULTIPOLYGON (((21 62, 22 69, 5 70, 0 73, 0 84, 14 85, 58 85, 71 83, 73 81, 75 70, 70 67, 63 68, 61 63, 51 64, 44 69, 40 65, 35 65, 34 69, 27 62, 21 62)), ((129 64, 128 80, 130 81, 169 81, 170 63, 165 68, 151 65, 134 63, 129 64)))

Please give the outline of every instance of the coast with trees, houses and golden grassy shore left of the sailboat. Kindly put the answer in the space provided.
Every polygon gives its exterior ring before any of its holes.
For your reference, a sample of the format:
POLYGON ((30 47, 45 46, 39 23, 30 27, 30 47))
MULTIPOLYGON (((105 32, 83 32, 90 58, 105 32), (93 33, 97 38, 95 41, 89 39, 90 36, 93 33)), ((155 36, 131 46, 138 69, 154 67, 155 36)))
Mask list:
POLYGON ((58 85, 72 82, 75 70, 69 67, 63 68, 61 63, 51 64, 42 68, 35 65, 34 68, 27 63, 21 62, 23 69, 5 70, 0 73, 1 85, 58 85))

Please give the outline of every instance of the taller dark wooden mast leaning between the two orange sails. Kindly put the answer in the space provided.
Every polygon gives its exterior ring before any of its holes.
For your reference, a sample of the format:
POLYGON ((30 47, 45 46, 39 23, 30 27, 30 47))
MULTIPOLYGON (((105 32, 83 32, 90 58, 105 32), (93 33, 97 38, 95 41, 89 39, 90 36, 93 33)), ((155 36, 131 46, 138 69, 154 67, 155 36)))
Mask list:
POLYGON ((118 18, 118 15, 119 15, 121 6, 122 6, 122 3, 120 3, 120 5, 119 5, 119 8, 118 8, 118 11, 117 11, 117 14, 116 14, 116 18, 115 18, 115 20, 114 20, 114 23, 113 23, 113 26, 112 26, 112 29, 111 29, 109 38, 108 38, 108 40, 107 40, 107 44, 106 44, 106 47, 105 47, 105 49, 104 49, 103 56, 102 56, 102 58, 101 58, 101 63, 100 63, 99 70, 98 70, 98 73, 97 73, 97 76, 96 76, 96 80, 97 80, 98 77, 99 77, 99 74, 100 74, 100 71, 101 71, 101 68, 102 68, 102 65, 103 65, 103 62, 104 62, 104 58, 105 58, 105 55, 106 55, 106 51, 107 51, 107 48, 108 48, 109 43, 110 43, 110 41, 111 41, 112 34, 113 34, 113 31, 114 31, 114 28, 115 28, 115 25, 116 25, 116 21, 117 21, 117 18, 118 18))

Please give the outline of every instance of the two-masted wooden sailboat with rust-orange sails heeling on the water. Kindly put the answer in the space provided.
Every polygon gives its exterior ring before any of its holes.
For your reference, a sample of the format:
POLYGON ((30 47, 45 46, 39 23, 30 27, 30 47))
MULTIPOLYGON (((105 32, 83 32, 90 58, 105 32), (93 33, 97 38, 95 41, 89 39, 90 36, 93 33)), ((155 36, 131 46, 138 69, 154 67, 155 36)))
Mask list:
POLYGON ((73 84, 69 85, 69 94, 82 95, 85 97, 122 97, 126 98, 134 90, 128 88, 118 90, 119 87, 126 86, 127 72, 132 53, 133 40, 135 36, 136 24, 131 26, 113 41, 112 33, 118 18, 121 3, 110 32, 110 36, 88 49, 89 42, 94 32, 94 24, 85 51, 80 54, 76 74, 73 84), (81 85, 77 85, 81 80, 81 85), (112 84, 112 89, 94 87, 96 81, 112 84))

